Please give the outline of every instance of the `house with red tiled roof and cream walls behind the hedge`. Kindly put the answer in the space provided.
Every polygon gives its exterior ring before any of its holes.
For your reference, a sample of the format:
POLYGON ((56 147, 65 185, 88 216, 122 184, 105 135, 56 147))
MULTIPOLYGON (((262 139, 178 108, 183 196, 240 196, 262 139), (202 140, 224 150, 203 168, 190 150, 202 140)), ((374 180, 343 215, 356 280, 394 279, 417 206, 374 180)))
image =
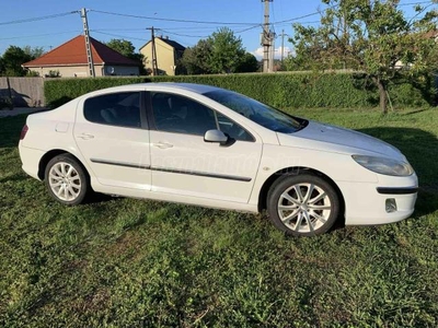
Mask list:
MULTIPOLYGON (((90 43, 96 77, 139 75, 139 62, 92 37, 90 37, 90 43)), ((61 78, 89 77, 85 37, 78 35, 42 57, 23 63, 22 67, 38 72, 39 77, 58 74, 57 72, 61 78)))

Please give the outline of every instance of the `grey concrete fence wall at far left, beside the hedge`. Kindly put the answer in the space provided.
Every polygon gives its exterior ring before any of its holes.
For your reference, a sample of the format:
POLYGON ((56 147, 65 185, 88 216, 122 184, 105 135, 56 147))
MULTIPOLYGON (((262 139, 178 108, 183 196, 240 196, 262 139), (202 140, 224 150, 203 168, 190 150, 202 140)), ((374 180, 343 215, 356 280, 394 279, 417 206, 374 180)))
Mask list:
POLYGON ((9 98, 10 94, 14 107, 45 106, 43 78, 0 78, 0 97, 9 98))

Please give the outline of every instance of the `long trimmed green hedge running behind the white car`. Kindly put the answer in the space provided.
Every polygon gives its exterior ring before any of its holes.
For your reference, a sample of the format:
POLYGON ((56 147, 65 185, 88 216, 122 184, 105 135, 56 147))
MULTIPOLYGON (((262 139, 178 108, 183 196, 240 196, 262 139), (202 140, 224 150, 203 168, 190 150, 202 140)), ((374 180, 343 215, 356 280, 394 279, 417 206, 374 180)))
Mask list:
MULTIPOLYGON (((400 82, 390 87, 396 107, 431 105, 435 89, 431 80, 411 84, 400 82)), ((148 82, 186 82, 233 90, 278 108, 362 108, 376 107, 376 89, 353 73, 277 73, 230 75, 181 75, 139 78, 56 79, 44 84, 46 104, 56 107, 88 92, 104 87, 148 82)))

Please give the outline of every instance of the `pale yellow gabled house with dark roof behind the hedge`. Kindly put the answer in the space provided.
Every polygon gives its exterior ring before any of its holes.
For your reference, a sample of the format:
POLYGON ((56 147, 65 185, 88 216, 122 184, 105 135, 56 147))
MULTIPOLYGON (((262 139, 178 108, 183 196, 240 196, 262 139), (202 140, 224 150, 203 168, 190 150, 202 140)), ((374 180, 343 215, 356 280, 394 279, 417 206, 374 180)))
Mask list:
MULTIPOLYGON (((177 60, 183 57, 185 47, 169 37, 155 37, 157 65, 159 74, 175 75, 177 60)), ((152 40, 140 48, 145 56, 145 67, 152 71, 152 40)))

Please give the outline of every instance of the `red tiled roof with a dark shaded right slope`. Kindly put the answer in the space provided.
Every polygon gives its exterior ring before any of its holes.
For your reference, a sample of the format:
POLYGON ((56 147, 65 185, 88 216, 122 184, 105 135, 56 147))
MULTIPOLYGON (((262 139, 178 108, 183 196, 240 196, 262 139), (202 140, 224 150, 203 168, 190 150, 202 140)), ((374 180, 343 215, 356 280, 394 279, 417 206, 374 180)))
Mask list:
MULTIPOLYGON (((92 37, 90 37, 90 42, 95 65, 139 66, 137 61, 120 55, 92 37)), ((88 65, 85 37, 83 35, 78 35, 59 47, 44 54, 42 57, 23 63, 23 67, 74 65, 88 65)))

